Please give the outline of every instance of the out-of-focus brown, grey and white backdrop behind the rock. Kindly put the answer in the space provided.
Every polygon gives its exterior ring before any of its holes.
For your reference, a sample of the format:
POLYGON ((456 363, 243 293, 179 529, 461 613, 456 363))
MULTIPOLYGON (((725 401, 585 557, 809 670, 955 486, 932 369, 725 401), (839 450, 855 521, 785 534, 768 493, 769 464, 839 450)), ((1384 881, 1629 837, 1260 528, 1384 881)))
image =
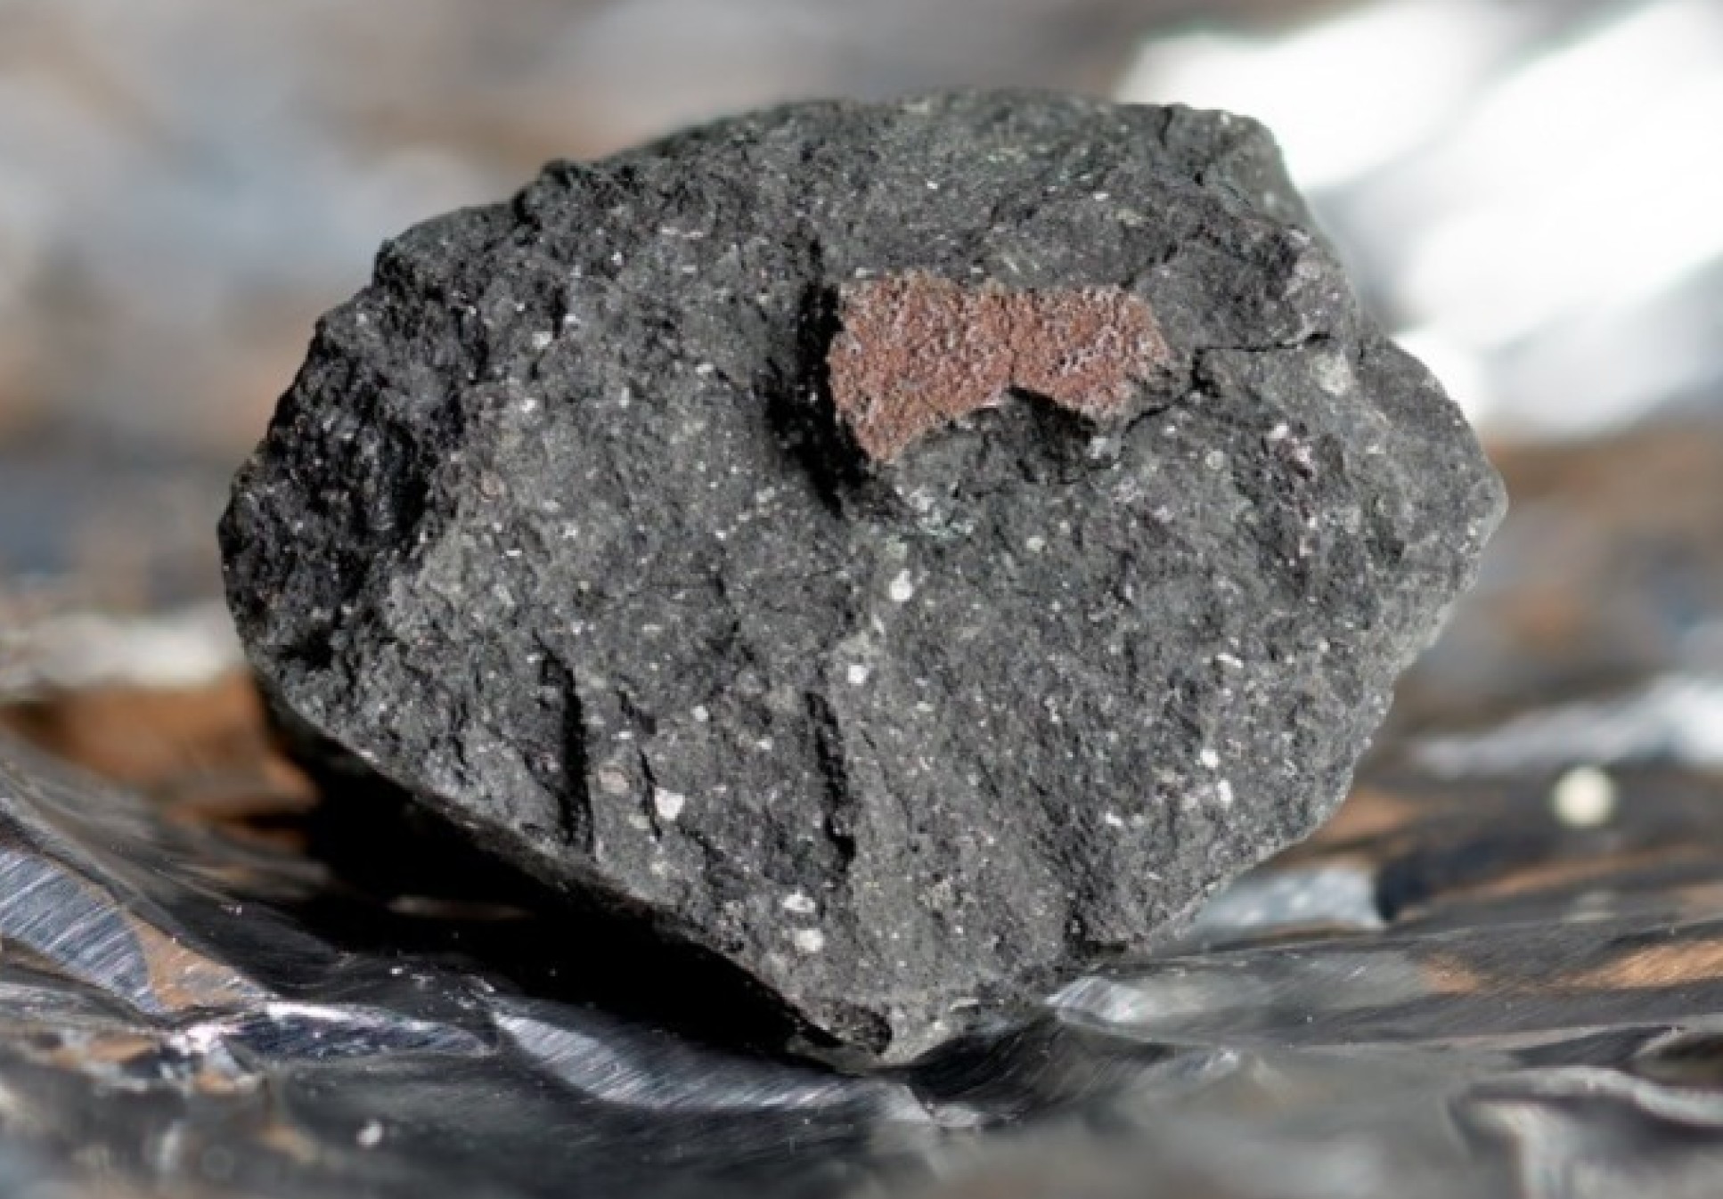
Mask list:
POLYGON ((1277 131, 1515 491, 1397 718, 1671 672, 1723 710, 1716 0, 0 0, 0 694, 236 663, 227 477, 383 238, 551 157, 955 84, 1277 131))

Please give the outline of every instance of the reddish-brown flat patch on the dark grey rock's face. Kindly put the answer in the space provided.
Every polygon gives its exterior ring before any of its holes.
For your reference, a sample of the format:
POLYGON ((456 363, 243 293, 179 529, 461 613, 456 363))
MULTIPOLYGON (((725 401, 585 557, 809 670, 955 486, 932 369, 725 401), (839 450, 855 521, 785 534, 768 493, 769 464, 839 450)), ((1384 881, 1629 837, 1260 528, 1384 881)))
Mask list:
POLYGON ((832 401, 875 462, 1011 389, 1117 415, 1170 358, 1149 305, 1122 288, 965 288, 910 270, 839 300, 832 401))

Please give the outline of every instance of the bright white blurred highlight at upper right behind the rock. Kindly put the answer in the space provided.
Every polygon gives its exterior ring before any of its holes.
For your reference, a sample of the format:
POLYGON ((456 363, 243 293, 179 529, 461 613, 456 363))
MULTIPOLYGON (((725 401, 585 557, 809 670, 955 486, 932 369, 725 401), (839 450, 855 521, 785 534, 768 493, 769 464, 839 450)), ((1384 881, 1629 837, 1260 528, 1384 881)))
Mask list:
POLYGON ((1261 119, 1394 331, 1496 438, 1620 427, 1723 377, 1723 5, 1549 24, 1385 0, 1151 40, 1122 98, 1261 119))

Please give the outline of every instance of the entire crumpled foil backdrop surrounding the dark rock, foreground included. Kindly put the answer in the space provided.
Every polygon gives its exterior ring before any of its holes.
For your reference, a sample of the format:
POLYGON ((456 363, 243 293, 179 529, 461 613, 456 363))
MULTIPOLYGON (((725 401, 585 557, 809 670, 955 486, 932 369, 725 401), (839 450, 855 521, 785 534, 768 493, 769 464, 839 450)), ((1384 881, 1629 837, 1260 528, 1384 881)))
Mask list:
POLYGON ((1723 1194, 1720 81, 1707 0, 0 0, 0 1196, 1723 1194), (388 233, 942 83, 1265 117, 1515 510, 1315 841, 856 1075, 315 794, 212 522, 388 233))

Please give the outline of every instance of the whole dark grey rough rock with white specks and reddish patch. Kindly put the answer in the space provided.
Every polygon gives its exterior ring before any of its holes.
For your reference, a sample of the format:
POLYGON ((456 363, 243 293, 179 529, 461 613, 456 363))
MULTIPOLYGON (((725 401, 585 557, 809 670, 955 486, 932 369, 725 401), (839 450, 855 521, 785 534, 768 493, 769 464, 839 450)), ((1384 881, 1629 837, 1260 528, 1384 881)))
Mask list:
POLYGON ((293 722, 901 1059, 1320 823, 1501 510, 1260 126, 992 93, 412 229, 222 537, 293 722))

